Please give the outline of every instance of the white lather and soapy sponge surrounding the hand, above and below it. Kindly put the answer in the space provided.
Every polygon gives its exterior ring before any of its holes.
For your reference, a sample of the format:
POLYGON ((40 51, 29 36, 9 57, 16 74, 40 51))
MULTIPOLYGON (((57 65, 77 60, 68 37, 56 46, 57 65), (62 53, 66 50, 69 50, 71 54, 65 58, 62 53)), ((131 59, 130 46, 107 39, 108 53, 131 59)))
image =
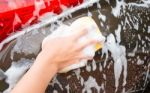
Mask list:
MULTIPOLYGON (((68 35, 72 35, 72 34, 74 34, 74 31, 78 31, 81 28, 85 28, 86 30, 88 30, 88 33, 87 33, 87 35, 85 35, 79 39, 79 41, 78 41, 79 44, 86 42, 88 38, 93 38, 93 39, 96 39, 99 41, 99 43, 97 43, 95 45, 89 45, 85 49, 83 49, 84 55, 94 57, 95 52, 98 49, 102 48, 103 43, 105 41, 105 37, 101 34, 97 24, 91 17, 78 18, 70 26, 61 25, 58 29, 56 29, 52 34, 50 34, 43 40, 42 46, 49 38, 65 37, 68 35)), ((64 42, 64 44, 65 44, 65 42, 64 42)), ((70 70, 83 67, 87 64, 87 61, 88 61, 87 59, 83 59, 83 60, 81 60, 81 62, 79 62, 77 64, 73 64, 73 65, 70 65, 68 67, 61 69, 59 71, 59 73, 65 73, 70 70)))

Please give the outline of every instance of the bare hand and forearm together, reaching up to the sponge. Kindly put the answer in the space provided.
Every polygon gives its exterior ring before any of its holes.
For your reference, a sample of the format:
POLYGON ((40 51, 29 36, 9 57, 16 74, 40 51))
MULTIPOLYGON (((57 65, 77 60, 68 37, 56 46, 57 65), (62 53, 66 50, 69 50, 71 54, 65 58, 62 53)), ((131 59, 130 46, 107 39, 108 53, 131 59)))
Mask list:
POLYGON ((59 70, 83 58, 91 59, 83 55, 82 50, 90 44, 96 44, 97 41, 88 39, 85 43, 79 44, 78 40, 86 34, 87 31, 82 29, 74 35, 48 38, 32 67, 11 93, 44 93, 49 81, 59 70))

